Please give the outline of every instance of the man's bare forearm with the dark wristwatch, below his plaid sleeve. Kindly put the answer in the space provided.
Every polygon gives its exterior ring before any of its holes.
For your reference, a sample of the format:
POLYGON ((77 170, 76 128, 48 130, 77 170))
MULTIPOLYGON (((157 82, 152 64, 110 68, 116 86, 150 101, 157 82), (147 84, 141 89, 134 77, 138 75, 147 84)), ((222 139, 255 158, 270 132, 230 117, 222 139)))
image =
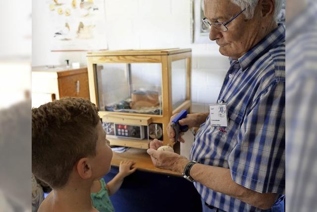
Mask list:
MULTIPOLYGON (((175 171, 182 173, 187 162, 188 160, 180 159, 175 171)), ((276 194, 261 194, 234 182, 230 169, 227 168, 197 163, 190 170, 190 176, 213 191, 239 199, 257 208, 268 209, 276 201, 276 194)))

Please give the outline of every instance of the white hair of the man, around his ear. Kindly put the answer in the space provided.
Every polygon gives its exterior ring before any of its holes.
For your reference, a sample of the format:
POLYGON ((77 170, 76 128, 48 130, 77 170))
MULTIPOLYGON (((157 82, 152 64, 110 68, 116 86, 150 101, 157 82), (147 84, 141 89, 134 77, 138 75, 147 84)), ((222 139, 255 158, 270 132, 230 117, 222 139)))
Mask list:
MULTIPOLYGON (((238 5, 241 9, 246 10, 243 14, 246 16, 247 19, 253 18, 254 10, 258 5, 259 0, 231 0, 232 3, 238 5)), ((281 8, 282 8, 283 0, 275 0, 275 10, 274 10, 274 19, 276 20, 281 8)))

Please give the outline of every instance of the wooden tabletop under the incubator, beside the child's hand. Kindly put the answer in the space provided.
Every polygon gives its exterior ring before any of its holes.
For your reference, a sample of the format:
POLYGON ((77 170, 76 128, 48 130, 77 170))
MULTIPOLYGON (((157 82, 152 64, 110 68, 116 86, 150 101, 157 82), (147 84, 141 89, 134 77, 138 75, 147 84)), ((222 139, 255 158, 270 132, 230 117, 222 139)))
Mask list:
POLYGON ((120 161, 122 160, 133 160, 135 162, 134 167, 137 167, 139 170, 181 176, 181 174, 173 171, 156 168, 153 165, 151 157, 147 153, 146 149, 130 148, 123 153, 113 152, 111 165, 119 166, 120 161))

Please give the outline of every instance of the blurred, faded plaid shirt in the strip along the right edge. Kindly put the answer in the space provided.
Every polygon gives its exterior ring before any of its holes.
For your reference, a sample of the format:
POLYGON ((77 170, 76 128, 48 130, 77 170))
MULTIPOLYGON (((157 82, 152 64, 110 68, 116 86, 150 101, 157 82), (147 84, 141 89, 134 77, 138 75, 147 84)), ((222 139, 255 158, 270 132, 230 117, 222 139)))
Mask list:
POLYGON ((316 1, 288 23, 286 46, 286 207, 289 212, 316 212, 316 1))

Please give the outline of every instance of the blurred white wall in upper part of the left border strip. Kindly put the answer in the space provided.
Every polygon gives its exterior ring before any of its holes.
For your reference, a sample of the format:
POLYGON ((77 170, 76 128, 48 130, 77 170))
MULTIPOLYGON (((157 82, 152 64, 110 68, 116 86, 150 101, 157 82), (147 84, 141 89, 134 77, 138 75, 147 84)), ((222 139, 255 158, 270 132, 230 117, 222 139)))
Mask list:
POLYGON ((24 101, 30 91, 31 10, 28 0, 0 1, 0 110, 24 101))

